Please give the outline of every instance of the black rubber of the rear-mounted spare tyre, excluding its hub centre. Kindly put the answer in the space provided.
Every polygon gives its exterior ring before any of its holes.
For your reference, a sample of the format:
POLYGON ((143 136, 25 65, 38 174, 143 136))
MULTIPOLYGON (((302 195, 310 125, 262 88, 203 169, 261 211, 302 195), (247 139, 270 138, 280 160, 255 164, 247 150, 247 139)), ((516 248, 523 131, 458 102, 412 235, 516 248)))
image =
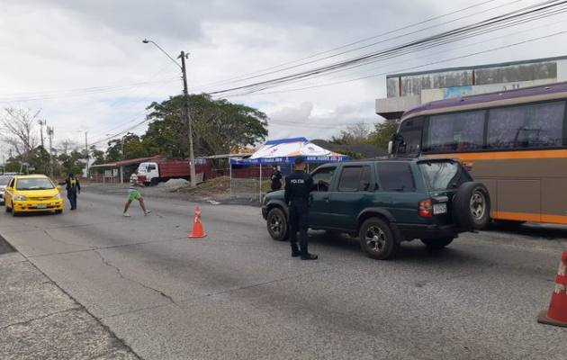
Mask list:
POLYGON ((475 181, 461 184, 453 197, 453 219, 464 230, 483 229, 491 220, 491 197, 484 184, 475 181), (475 193, 484 195, 485 207, 482 217, 477 219, 471 209, 471 199, 475 193))

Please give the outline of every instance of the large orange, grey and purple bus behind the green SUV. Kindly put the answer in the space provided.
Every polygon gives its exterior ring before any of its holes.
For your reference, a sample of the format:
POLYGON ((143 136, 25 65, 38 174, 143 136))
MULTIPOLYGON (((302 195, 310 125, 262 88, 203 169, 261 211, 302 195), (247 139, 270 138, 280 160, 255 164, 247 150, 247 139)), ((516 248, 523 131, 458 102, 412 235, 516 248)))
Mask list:
POLYGON ((567 224, 567 83, 425 103, 392 156, 453 157, 490 193, 491 219, 567 224))

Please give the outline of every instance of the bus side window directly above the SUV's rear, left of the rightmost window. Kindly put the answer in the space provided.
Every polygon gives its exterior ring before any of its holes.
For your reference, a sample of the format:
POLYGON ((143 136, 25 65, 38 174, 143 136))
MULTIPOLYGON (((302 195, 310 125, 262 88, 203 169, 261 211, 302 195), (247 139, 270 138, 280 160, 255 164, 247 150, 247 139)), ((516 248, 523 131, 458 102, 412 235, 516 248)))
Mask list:
POLYGON ((484 110, 429 117, 425 152, 480 150, 484 143, 484 110))

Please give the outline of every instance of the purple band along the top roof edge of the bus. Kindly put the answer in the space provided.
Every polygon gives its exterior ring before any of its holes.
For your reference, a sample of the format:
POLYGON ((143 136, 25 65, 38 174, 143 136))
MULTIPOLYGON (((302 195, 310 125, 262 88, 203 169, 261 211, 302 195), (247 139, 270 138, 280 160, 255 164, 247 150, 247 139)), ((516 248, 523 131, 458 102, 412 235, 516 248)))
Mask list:
POLYGON ((418 107, 414 107, 404 112, 403 118, 414 112, 422 112, 425 110, 442 109, 445 107, 454 107, 472 103, 490 103, 497 100, 514 99, 517 97, 536 96, 541 94, 555 94, 567 92, 567 82, 551 85, 526 87, 518 90, 501 91, 499 93, 478 94, 464 97, 455 97, 446 100, 438 100, 431 103, 424 103, 418 107))

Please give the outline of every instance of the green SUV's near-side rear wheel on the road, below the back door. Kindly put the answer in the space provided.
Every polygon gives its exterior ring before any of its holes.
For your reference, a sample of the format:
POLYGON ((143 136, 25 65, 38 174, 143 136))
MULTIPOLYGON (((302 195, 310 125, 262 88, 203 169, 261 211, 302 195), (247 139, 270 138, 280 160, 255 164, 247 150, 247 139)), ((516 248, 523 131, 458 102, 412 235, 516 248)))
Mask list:
POLYGON ((360 246, 368 257, 386 260, 395 256, 400 244, 394 238, 390 225, 382 219, 370 218, 360 227, 360 246))

